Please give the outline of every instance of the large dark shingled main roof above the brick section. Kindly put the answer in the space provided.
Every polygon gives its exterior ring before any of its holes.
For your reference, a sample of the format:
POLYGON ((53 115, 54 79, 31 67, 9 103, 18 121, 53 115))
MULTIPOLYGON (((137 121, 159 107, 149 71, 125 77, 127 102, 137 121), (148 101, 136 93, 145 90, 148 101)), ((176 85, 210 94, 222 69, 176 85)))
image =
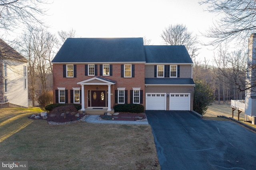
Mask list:
POLYGON ((145 62, 143 38, 68 38, 53 63, 145 62))

